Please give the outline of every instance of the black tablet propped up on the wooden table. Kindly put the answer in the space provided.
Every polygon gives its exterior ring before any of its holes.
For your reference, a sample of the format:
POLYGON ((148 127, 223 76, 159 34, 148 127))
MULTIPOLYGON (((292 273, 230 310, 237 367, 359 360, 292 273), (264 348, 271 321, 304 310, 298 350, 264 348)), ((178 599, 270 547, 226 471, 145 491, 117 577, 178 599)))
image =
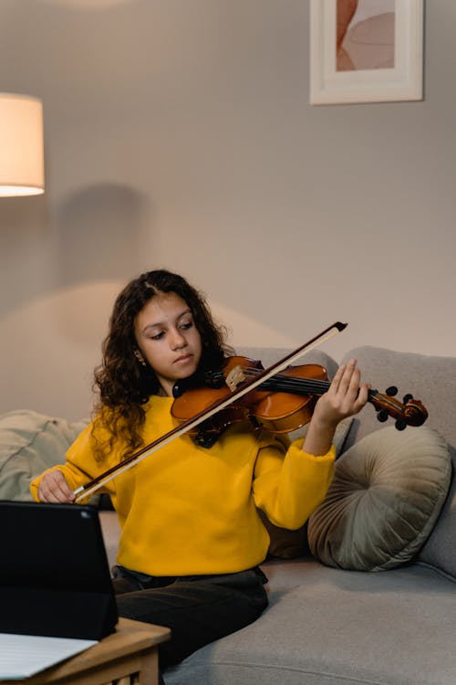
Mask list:
POLYGON ((118 614, 90 505, 0 501, 0 632, 101 639, 118 614))

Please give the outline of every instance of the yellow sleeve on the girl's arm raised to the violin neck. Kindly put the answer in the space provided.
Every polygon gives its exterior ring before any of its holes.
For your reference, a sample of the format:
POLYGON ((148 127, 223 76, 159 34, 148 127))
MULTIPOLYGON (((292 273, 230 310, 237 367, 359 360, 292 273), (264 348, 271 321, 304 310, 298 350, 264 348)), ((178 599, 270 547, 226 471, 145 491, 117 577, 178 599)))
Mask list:
POLYGON ((334 475, 336 449, 316 457, 303 451, 304 437, 285 452, 275 440, 261 447, 254 472, 254 501, 277 526, 295 530, 324 500, 334 475))

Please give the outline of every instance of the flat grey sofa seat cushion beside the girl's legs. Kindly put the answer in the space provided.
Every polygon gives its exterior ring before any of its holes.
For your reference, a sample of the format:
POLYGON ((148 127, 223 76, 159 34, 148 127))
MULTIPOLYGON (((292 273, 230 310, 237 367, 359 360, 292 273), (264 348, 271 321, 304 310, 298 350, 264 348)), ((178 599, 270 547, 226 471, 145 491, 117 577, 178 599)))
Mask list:
POLYGON ((308 559, 275 567, 294 566, 290 588, 263 564, 264 614, 166 669, 166 685, 454 685, 450 580, 415 564, 385 574, 308 559))

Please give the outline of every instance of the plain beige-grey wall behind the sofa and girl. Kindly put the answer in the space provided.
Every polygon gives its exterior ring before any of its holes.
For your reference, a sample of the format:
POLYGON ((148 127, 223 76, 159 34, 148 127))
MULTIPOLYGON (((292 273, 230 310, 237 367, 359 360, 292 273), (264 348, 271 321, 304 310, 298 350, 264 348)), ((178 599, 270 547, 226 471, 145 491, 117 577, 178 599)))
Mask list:
POLYGON ((456 5, 427 3, 420 102, 311 107, 308 24, 306 0, 0 0, 0 90, 44 100, 47 170, 0 199, 0 411, 87 415, 112 300, 161 266, 234 344, 342 320, 337 359, 454 353, 456 5))

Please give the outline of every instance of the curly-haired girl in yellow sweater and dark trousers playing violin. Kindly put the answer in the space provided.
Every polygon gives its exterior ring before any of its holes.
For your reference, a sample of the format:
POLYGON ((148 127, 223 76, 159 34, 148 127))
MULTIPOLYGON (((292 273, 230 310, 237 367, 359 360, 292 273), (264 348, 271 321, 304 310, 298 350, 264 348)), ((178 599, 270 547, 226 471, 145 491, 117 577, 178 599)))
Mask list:
MULTIPOLYGON (((230 349, 202 294, 160 269, 119 294, 95 417, 66 463, 31 486, 37 501, 72 502, 74 490, 176 426, 176 382, 220 365, 230 349)), ((183 435, 104 486, 121 526, 114 568, 119 616, 171 627, 161 669, 253 622, 267 606, 259 564, 269 537, 258 514, 295 529, 323 500, 333 476, 338 422, 367 402, 355 361, 338 369, 306 438, 233 424, 211 448, 183 435)))

